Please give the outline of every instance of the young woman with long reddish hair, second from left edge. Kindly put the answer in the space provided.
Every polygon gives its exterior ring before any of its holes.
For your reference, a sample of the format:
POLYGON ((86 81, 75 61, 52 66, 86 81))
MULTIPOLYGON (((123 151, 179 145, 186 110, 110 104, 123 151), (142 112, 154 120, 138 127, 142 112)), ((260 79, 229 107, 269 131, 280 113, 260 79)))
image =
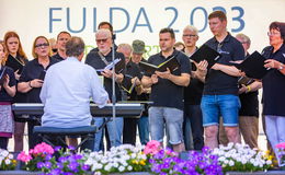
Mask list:
MULTIPOLYGON (((4 35, 4 45, 7 47, 7 61, 5 66, 14 70, 14 77, 16 82, 20 79, 23 67, 29 61, 27 57, 23 50, 19 35, 15 32, 8 32, 4 35)), ((25 103, 26 94, 16 91, 13 97, 13 103, 25 103)), ((25 115, 26 116, 26 115, 25 115)), ((23 150, 23 133, 25 129, 25 119, 23 115, 14 116, 14 151, 20 152, 23 150)))

